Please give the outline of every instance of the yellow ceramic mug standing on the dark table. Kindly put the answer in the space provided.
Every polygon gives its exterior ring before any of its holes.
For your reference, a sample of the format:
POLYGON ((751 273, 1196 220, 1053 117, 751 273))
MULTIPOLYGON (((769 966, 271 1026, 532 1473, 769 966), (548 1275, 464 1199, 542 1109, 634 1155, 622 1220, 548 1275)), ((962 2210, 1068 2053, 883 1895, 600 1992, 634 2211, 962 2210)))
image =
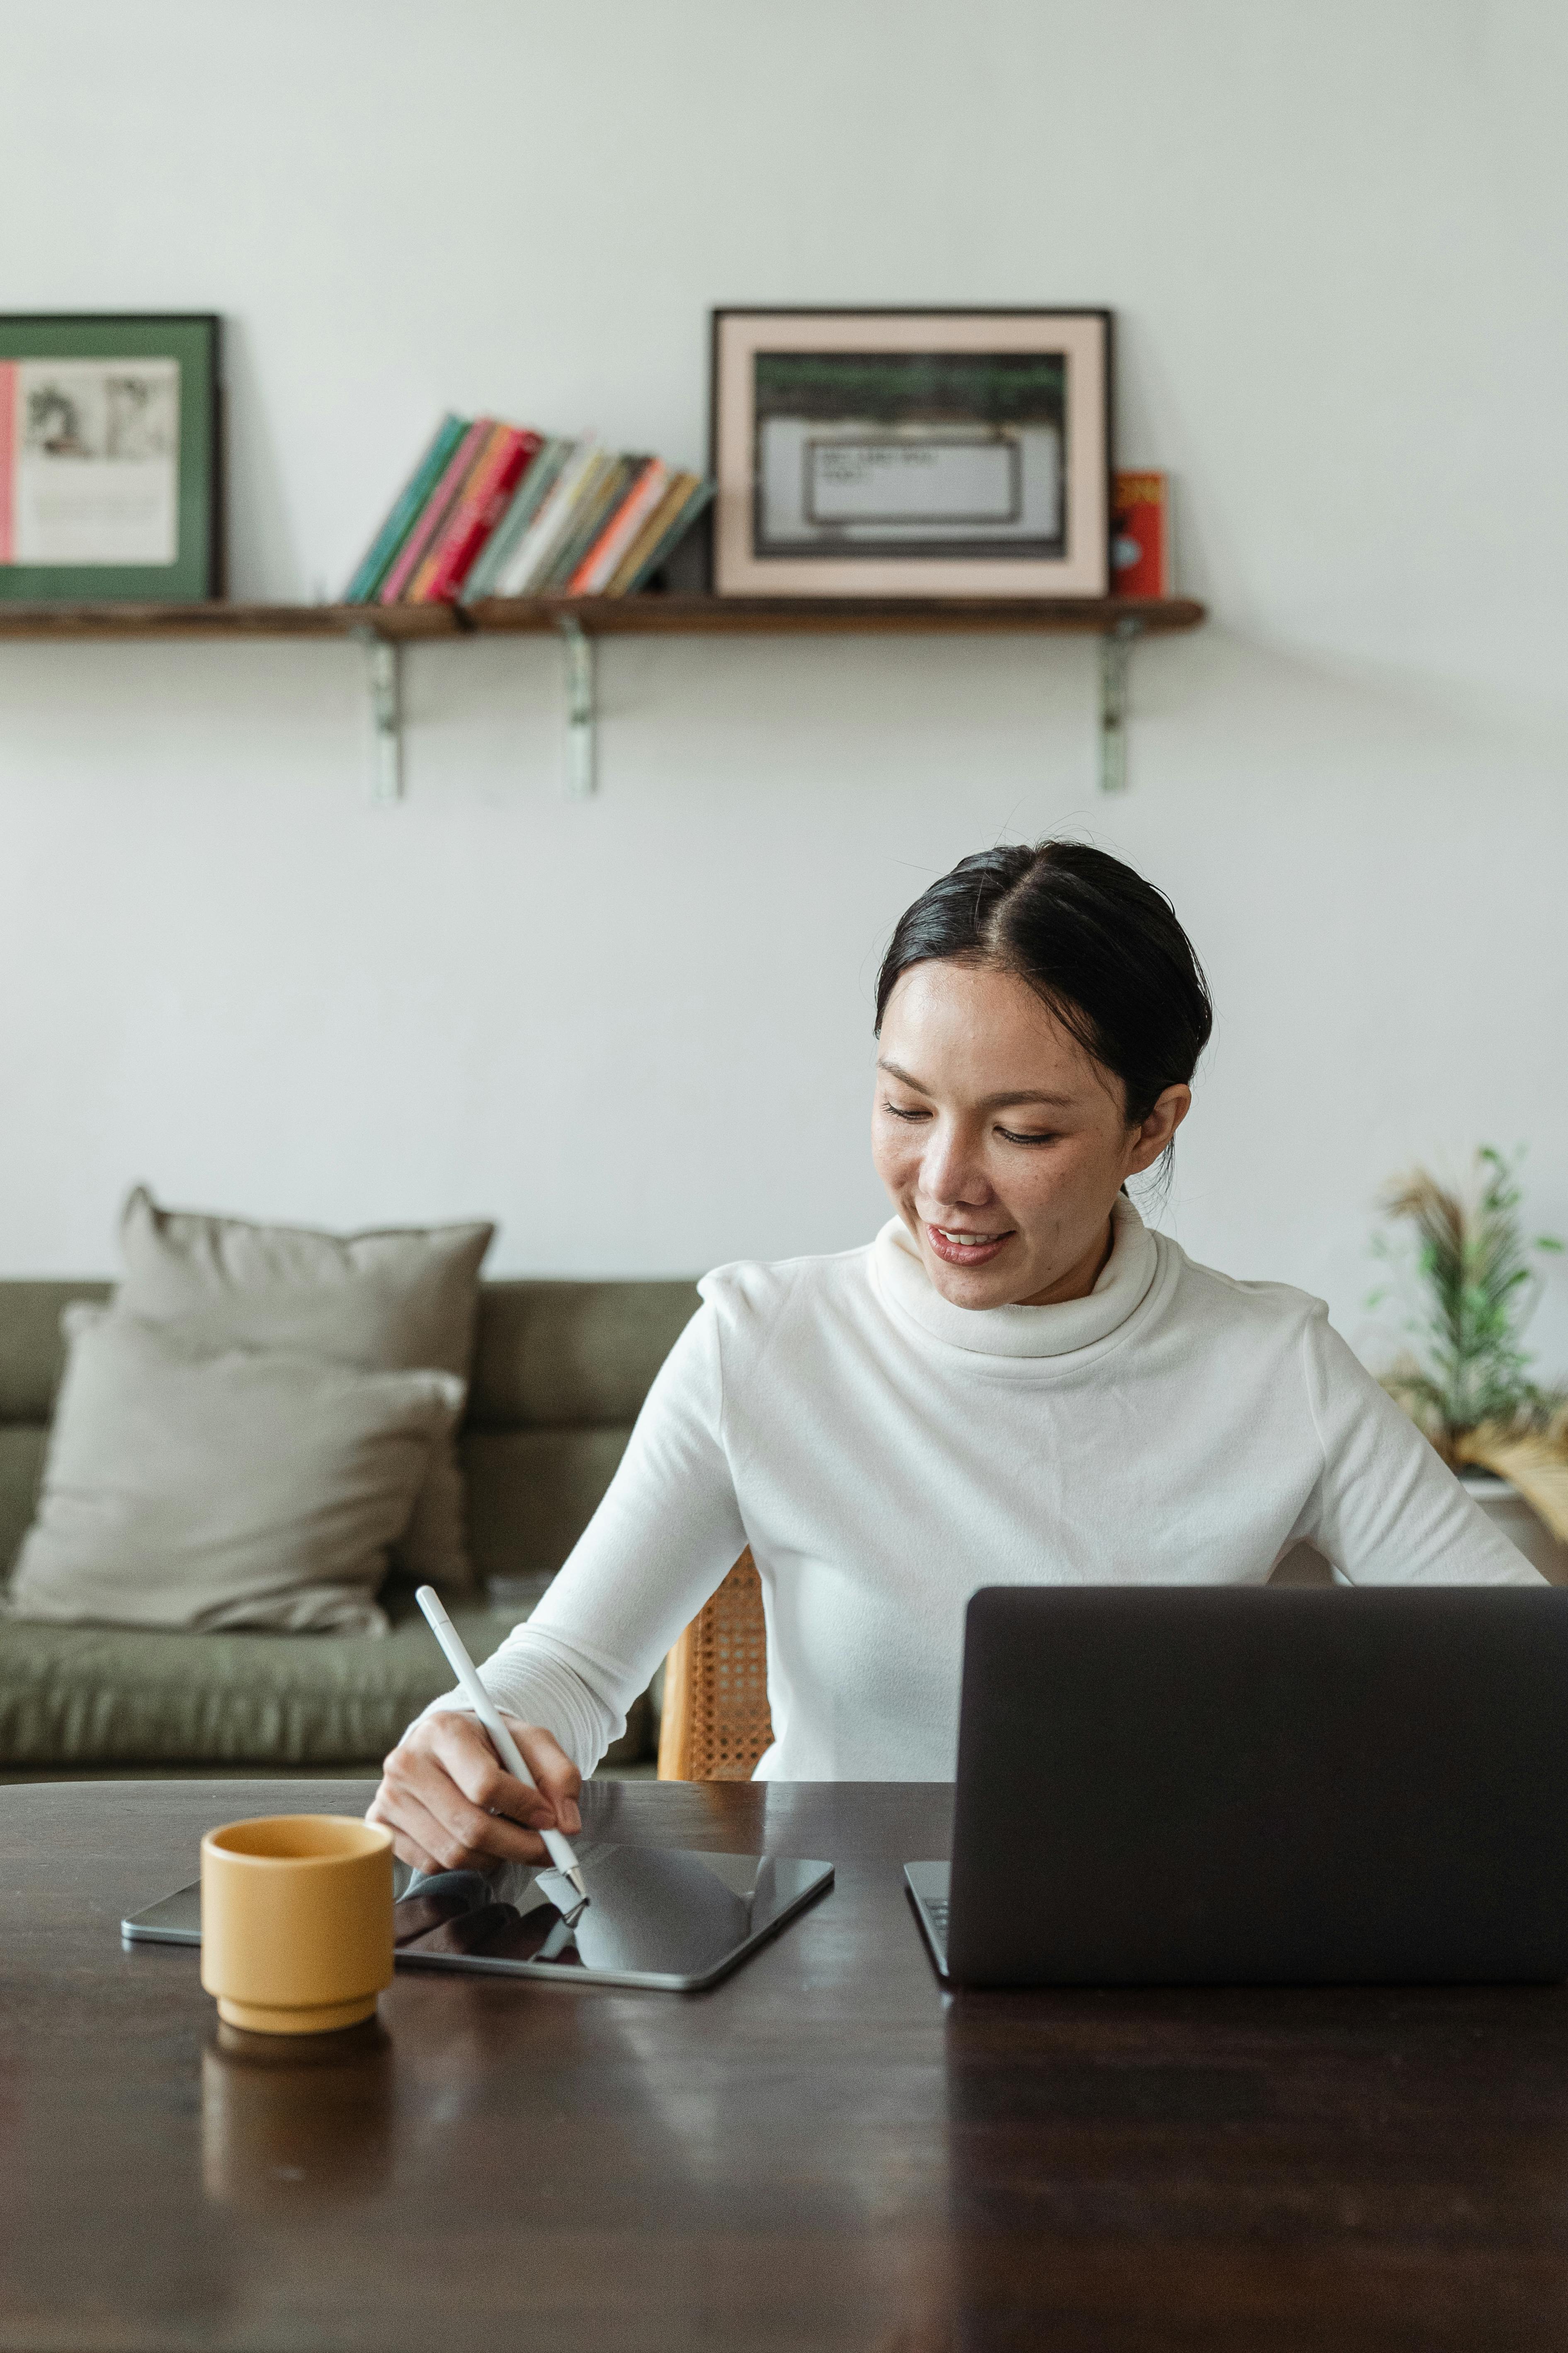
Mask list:
POLYGON ((393 1984, 393 1838, 348 1814, 228 1821, 202 1840, 202 1984, 254 2035, 324 2035, 393 1984))

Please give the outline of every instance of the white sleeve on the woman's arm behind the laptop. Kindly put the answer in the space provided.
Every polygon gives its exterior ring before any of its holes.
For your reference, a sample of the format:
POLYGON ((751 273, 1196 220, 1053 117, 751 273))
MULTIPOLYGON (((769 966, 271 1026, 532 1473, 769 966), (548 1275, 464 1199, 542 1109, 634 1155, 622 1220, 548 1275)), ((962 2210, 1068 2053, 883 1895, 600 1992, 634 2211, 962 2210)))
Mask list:
POLYGON ((1324 1471, 1295 1534, 1354 1586, 1537 1586, 1319 1308, 1302 1332, 1324 1471))

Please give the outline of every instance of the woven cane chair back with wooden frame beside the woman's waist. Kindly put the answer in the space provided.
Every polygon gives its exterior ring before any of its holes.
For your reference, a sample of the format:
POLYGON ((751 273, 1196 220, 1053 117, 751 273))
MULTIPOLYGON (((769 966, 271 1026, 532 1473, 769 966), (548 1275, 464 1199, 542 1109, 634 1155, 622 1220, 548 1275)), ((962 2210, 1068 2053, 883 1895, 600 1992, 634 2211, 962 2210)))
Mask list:
POLYGON ((773 1741, 762 1579, 750 1551, 665 1659, 661 1781, 750 1781, 773 1741))

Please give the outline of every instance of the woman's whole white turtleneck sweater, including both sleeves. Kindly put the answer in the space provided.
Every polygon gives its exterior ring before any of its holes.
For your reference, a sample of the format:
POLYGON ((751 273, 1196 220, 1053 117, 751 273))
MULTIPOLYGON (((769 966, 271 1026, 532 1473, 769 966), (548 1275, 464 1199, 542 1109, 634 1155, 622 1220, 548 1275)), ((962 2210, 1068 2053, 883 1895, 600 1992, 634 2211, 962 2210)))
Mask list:
MULTIPOLYGON (((976 1586, 1537 1584, 1328 1327, 1117 1205, 1088 1299, 954 1308, 893 1219, 722 1266, 609 1494, 484 1666, 583 1772, 750 1544, 788 1781, 947 1781, 976 1586)), ((461 1694, 435 1706, 463 1706, 461 1694)))

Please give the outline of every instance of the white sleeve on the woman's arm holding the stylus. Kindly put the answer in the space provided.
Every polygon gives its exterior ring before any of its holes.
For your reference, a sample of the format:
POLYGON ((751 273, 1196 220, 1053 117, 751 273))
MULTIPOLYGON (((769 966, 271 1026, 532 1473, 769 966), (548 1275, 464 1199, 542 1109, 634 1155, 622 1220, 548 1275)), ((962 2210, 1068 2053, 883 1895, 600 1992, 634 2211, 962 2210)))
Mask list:
MULTIPOLYGON (((745 1551, 722 1442, 724 1381, 703 1306, 654 1381, 604 1501, 543 1602, 484 1664, 496 1706, 545 1725, 581 1772, 625 1729, 625 1711, 682 1626, 745 1551)), ((433 1708, 461 1708, 451 1692, 433 1708)))

